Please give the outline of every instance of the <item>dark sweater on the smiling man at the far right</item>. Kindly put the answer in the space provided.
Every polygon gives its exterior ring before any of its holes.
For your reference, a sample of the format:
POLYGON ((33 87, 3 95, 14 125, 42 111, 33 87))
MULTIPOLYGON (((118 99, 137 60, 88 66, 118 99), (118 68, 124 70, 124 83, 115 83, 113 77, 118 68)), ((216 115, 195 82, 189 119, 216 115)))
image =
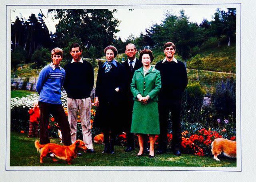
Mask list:
MULTIPOLYGON (((178 61, 178 60, 177 60, 178 61)), ((182 92, 184 92, 188 84, 188 76, 184 63, 178 61, 162 61, 156 63, 157 70, 161 74, 162 88, 159 94, 160 99, 169 102, 174 99, 181 99, 182 92)))

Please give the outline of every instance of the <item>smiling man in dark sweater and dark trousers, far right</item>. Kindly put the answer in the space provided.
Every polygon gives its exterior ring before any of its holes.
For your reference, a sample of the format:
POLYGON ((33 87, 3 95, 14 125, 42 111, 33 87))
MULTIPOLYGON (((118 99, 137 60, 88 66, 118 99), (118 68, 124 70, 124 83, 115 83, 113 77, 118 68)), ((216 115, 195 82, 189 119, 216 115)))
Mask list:
POLYGON ((156 69, 160 71, 162 88, 159 93, 159 122, 160 135, 158 138, 158 154, 166 153, 167 149, 167 127, 168 115, 171 112, 172 121, 172 151, 174 155, 181 155, 181 127, 180 112, 181 99, 188 84, 188 76, 184 63, 174 58, 176 47, 174 43, 164 44, 165 59, 156 64, 156 69))

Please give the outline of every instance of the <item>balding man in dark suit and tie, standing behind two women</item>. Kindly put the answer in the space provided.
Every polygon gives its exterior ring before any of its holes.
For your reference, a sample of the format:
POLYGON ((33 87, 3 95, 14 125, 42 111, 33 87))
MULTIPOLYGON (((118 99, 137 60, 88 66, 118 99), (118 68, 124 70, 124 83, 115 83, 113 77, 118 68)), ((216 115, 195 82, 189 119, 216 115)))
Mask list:
MULTIPOLYGON (((126 132, 127 137, 127 148, 124 150, 126 152, 134 151, 134 134, 130 133, 131 123, 132 123, 132 108, 134 104, 133 95, 131 92, 131 82, 134 71, 141 68, 143 65, 140 60, 138 60, 135 55, 137 53, 137 49, 134 44, 128 43, 125 47, 125 54, 127 55, 127 60, 122 63, 125 69, 126 75, 126 91, 125 91, 125 101, 124 101, 124 121, 123 127, 126 132)), ((147 142, 144 142, 145 146, 147 146, 147 142)), ((146 149, 145 147, 144 149, 146 149)), ((144 151, 144 153, 149 152, 148 149, 144 151)))

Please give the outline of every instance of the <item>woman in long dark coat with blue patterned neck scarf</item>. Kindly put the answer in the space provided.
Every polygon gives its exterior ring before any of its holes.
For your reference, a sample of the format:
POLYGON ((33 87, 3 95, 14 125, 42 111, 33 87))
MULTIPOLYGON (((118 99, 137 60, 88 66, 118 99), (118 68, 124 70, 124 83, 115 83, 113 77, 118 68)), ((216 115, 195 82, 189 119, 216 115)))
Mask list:
POLYGON ((94 127, 102 128, 104 151, 114 153, 114 139, 120 128, 121 98, 124 89, 124 67, 114 60, 116 47, 110 45, 104 49, 107 61, 99 66, 96 82, 95 104, 98 106, 94 127))

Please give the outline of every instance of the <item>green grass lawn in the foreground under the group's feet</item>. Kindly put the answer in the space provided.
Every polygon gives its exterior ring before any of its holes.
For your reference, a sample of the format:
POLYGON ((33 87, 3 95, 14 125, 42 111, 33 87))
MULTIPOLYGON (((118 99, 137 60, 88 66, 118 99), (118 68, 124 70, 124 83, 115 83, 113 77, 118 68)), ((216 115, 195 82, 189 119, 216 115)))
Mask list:
MULTIPOLYGON (((11 132, 10 166, 68 166, 66 161, 53 162, 44 158, 44 163, 39 162, 40 155, 34 146, 36 138, 28 138, 27 134, 11 132)), ((50 139, 52 143, 59 143, 59 139, 50 139)), ((130 153, 124 152, 124 147, 115 146, 115 154, 102 154, 104 145, 94 144, 96 153, 83 153, 82 156, 72 160, 71 166, 198 166, 198 167, 236 167, 236 159, 219 157, 216 161, 212 157, 199 157, 196 155, 182 154, 174 156, 172 153, 156 155, 150 159, 136 157, 138 149, 130 153)))

